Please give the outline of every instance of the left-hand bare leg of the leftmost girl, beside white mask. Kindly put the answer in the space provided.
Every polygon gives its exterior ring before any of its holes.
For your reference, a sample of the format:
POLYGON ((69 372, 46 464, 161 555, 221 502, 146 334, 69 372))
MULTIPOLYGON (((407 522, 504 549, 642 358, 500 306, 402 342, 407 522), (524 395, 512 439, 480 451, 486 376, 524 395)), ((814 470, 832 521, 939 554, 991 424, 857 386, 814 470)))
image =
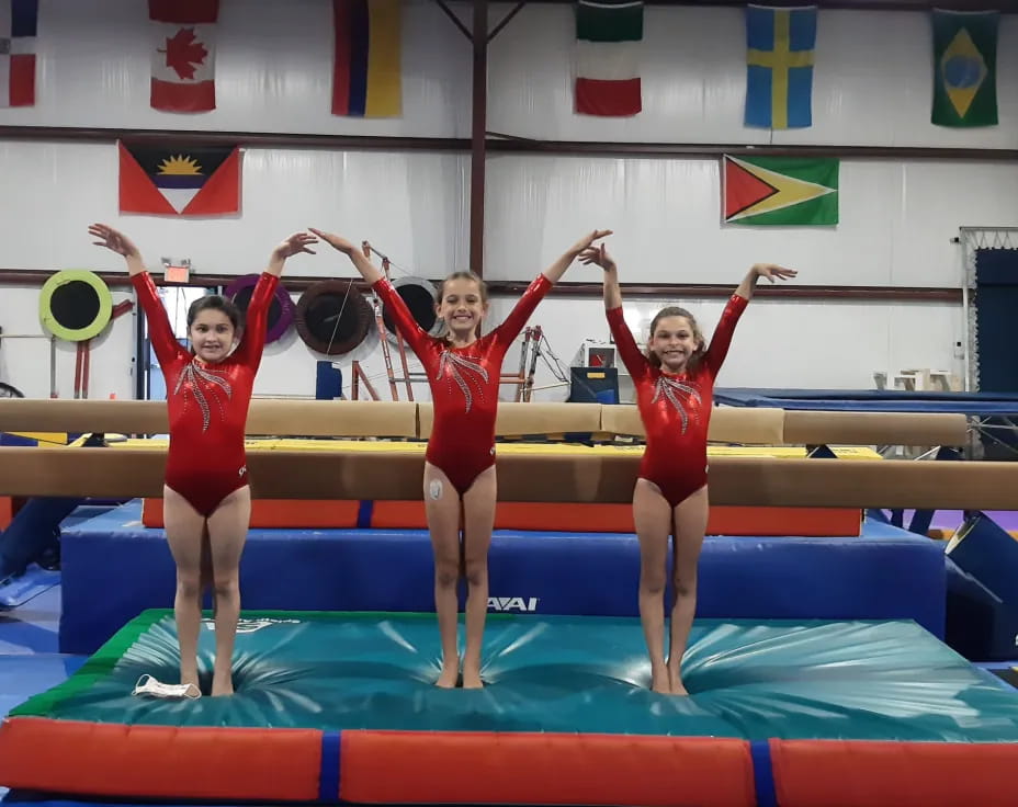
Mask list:
POLYGON ((162 520, 170 553, 177 564, 173 616, 180 643, 180 683, 197 680, 197 637, 202 629, 202 541, 205 519, 180 493, 162 489, 162 520))

